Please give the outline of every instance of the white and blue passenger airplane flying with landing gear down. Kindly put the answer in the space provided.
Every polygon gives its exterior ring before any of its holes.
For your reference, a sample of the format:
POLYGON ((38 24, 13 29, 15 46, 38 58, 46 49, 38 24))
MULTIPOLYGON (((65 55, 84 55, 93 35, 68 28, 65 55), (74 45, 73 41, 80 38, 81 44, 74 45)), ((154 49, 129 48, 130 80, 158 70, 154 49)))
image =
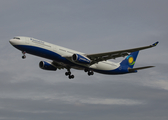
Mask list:
POLYGON ((57 69, 67 69, 65 75, 68 76, 69 79, 74 78, 74 75, 72 75, 70 71, 72 68, 84 70, 90 76, 93 75, 94 72, 108 75, 136 73, 138 70, 154 67, 145 66, 133 68, 140 50, 152 48, 159 43, 157 41, 152 45, 144 47, 85 54, 32 37, 16 36, 10 39, 9 42, 22 52, 23 59, 26 58, 25 54, 28 53, 51 60, 39 62, 39 67, 43 70, 56 71, 57 69), (109 61, 109 59, 118 57, 125 57, 125 59, 119 63, 109 61))

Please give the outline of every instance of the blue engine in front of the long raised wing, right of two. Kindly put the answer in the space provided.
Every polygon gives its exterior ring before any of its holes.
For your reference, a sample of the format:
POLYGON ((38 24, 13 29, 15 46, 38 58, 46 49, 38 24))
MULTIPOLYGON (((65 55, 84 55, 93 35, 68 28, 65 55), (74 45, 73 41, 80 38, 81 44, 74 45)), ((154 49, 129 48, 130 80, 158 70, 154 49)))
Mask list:
POLYGON ((81 64, 90 64, 91 60, 87 58, 86 56, 79 55, 79 54, 73 54, 72 60, 81 64))

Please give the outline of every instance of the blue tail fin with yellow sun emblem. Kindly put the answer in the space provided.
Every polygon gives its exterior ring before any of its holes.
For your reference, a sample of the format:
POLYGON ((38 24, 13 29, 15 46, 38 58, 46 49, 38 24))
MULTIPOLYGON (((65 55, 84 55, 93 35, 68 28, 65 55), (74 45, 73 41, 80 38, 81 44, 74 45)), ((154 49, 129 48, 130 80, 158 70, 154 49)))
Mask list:
POLYGON ((120 63, 120 65, 128 66, 129 68, 133 68, 133 67, 134 67, 134 64, 135 64, 135 61, 136 61, 136 58, 137 58, 137 56, 138 56, 138 53, 139 53, 139 51, 130 53, 130 54, 120 63))

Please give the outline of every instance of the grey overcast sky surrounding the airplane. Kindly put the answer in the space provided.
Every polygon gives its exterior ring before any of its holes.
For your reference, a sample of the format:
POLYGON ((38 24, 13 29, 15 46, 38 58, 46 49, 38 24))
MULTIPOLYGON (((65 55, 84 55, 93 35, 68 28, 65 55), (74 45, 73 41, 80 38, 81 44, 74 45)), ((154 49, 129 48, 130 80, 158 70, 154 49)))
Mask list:
MULTIPOLYGON (((168 0, 1 0, 0 120, 166 120, 168 0), (12 47, 28 36, 84 53, 158 46, 139 53, 127 75, 44 71, 44 58, 12 47)), ((118 62, 123 58, 112 60, 118 62)))

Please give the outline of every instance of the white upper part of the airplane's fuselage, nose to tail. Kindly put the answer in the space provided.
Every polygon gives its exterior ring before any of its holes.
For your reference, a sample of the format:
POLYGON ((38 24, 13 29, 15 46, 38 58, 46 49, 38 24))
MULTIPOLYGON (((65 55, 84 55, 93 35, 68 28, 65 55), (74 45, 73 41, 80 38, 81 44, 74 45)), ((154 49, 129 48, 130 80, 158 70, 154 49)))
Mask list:
MULTIPOLYGON (((61 47, 61 46, 58 46, 58 45, 54 45, 54 44, 51 44, 51 43, 48 43, 48 42, 44 42, 44 41, 41 41, 41 40, 37 40, 37 39, 34 39, 34 38, 29 38, 29 37, 20 37, 20 40, 18 39, 11 39, 10 40, 10 43, 13 45, 13 46, 31 46, 31 47, 36 47, 36 48, 42 48, 44 50, 47 50, 47 51, 51 51, 51 52, 54 52, 58 55, 60 55, 61 57, 66 57, 66 56, 72 56, 73 54, 82 54, 84 55, 84 53, 81 53, 81 52, 78 52, 78 51, 74 51, 74 50, 71 50, 71 49, 68 49, 68 48, 64 48, 64 47, 61 47)), ((29 51, 26 51, 27 53, 29 53, 29 51)), ((33 53, 30 53, 30 54, 33 54, 33 53)), ((40 56, 40 54, 35 54, 37 56, 40 56)), ((53 59, 51 59, 53 60, 53 59)), ((53 60, 55 61, 55 60, 53 60)), ((73 61, 71 61, 73 62, 73 61)), ((73 67, 72 68, 76 68, 76 69, 84 69, 84 67, 86 66, 81 66, 81 64, 79 63, 76 63, 76 62, 73 62, 74 64, 76 64, 76 66, 78 67, 73 67)), ((120 66, 119 63, 114 63, 114 62, 111 62, 111 61, 102 61, 102 62, 98 62, 96 64, 93 64, 91 66, 88 66, 90 69, 93 69, 93 70, 101 70, 101 71, 110 71, 110 70, 114 70, 116 68, 118 68, 120 66)))

